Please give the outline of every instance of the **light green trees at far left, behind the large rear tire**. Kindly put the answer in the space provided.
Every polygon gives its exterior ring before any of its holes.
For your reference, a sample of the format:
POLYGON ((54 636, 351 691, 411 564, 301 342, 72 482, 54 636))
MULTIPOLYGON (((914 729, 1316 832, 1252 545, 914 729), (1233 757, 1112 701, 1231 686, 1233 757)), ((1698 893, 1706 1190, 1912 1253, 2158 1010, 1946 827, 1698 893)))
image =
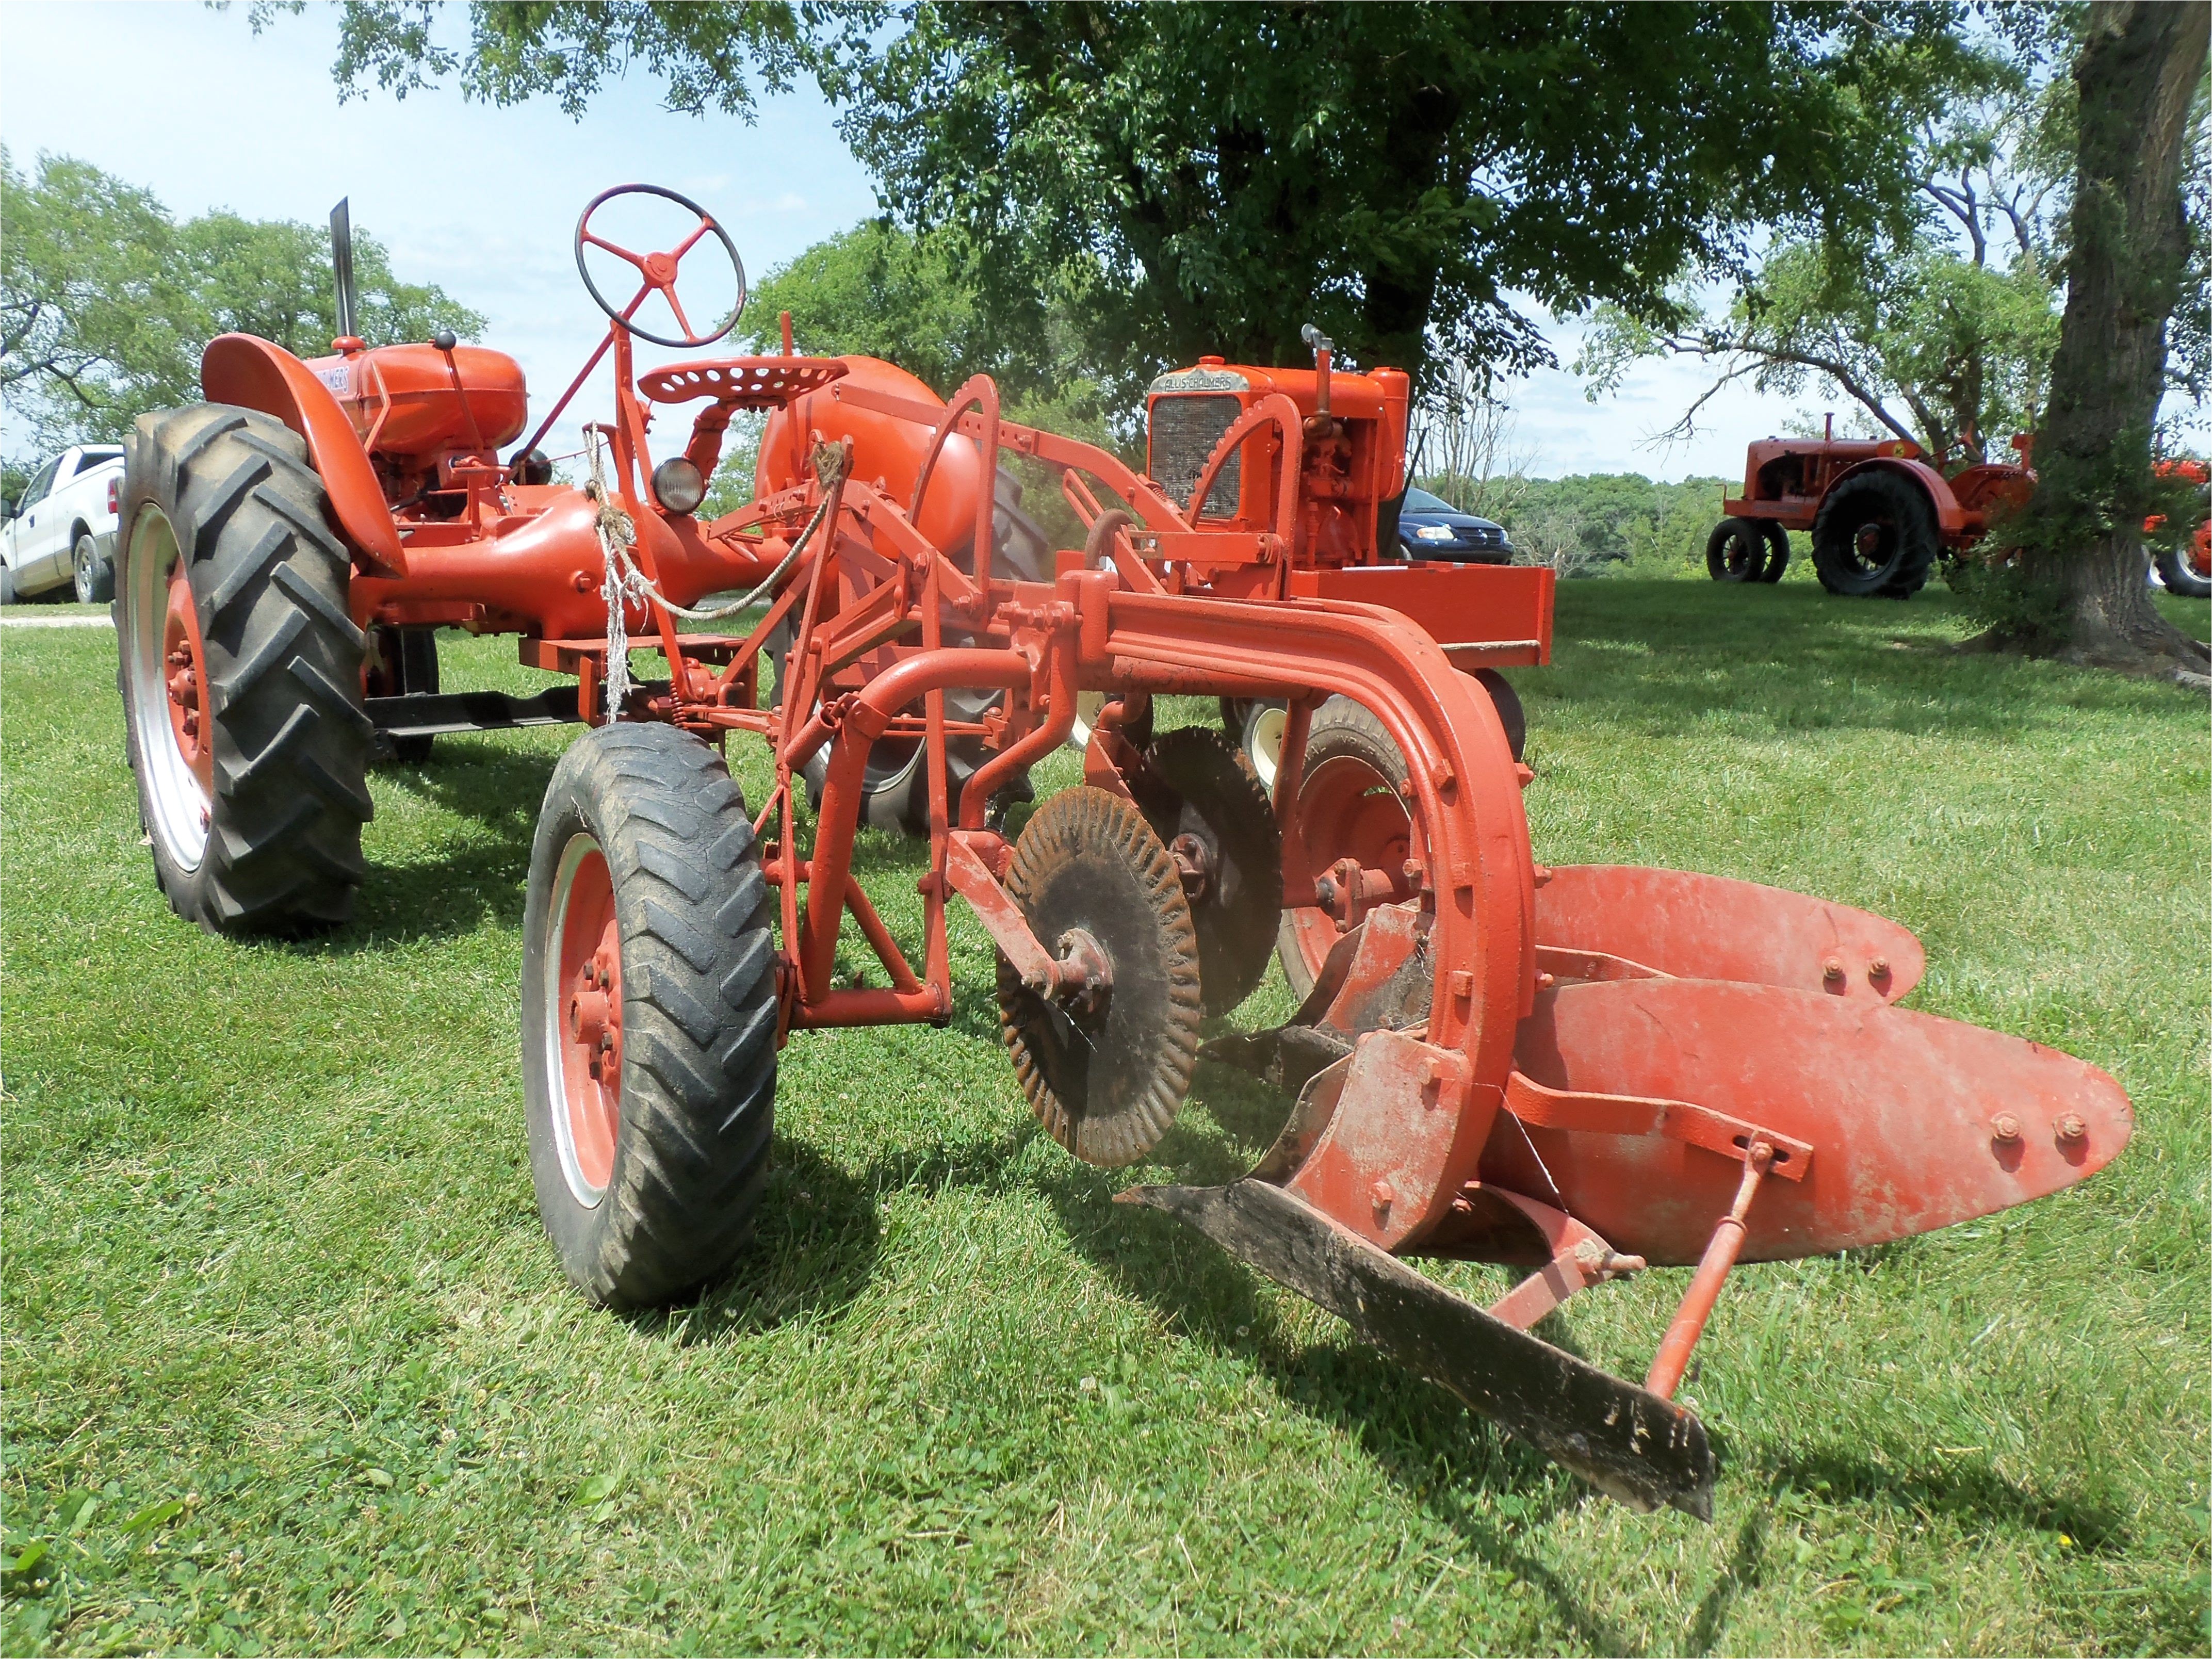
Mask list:
MULTIPOLYGON (((66 155, 35 177, 0 153, 0 394, 27 449, 119 440, 146 409, 199 398, 199 349, 246 332, 321 356, 338 330, 330 230, 208 212, 177 221, 150 190, 66 155)), ((484 319, 403 283, 354 230, 356 327, 372 343, 484 319)))

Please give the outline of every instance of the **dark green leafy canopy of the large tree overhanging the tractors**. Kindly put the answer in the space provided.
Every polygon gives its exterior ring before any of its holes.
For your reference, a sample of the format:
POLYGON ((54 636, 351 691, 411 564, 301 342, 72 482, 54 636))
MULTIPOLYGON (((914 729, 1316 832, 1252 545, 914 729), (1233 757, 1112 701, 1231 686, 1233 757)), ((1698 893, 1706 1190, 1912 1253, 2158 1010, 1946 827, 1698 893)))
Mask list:
POLYGON ((641 62, 675 106, 743 113, 754 77, 812 66, 889 212, 958 239, 987 323, 1057 314, 1126 392, 1203 352, 1296 361, 1307 321, 1356 363, 1526 367, 1548 361, 1531 301, 1659 319, 1683 270, 1739 268, 1754 223, 1902 223, 1953 13, 471 4, 467 46, 436 20, 349 0, 341 80, 458 71, 582 108, 641 62))

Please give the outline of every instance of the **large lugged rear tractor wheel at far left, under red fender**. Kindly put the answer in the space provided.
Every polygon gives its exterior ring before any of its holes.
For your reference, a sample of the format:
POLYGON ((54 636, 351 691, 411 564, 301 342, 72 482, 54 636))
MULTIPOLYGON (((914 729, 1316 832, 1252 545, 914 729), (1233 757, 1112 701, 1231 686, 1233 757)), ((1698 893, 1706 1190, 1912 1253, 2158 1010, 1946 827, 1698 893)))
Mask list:
POLYGON ((374 730, 307 445, 221 403, 139 416, 119 524, 115 677, 161 891, 210 933, 343 922, 374 730))

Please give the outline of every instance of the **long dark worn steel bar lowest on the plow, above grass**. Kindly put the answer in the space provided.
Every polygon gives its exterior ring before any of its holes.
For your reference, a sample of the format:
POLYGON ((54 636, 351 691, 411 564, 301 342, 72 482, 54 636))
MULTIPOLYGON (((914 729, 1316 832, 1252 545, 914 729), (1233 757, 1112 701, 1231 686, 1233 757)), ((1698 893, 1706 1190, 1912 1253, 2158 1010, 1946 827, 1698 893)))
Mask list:
POLYGON ((1117 1201, 1188 1221, 1608 1498, 1712 1520, 1714 1462, 1694 1413, 1493 1318, 1283 1188, 1139 1186, 1117 1201))

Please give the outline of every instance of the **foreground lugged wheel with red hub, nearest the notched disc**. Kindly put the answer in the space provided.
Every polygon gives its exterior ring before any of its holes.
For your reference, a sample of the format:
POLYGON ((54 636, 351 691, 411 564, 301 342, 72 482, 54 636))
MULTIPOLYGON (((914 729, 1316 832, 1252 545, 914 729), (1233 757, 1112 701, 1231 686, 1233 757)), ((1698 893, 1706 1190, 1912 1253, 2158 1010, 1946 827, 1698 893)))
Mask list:
POLYGON ((538 1212, 602 1307, 717 1279, 776 1113, 776 942, 745 799, 672 726, 602 726, 546 785, 522 922, 538 1212))

